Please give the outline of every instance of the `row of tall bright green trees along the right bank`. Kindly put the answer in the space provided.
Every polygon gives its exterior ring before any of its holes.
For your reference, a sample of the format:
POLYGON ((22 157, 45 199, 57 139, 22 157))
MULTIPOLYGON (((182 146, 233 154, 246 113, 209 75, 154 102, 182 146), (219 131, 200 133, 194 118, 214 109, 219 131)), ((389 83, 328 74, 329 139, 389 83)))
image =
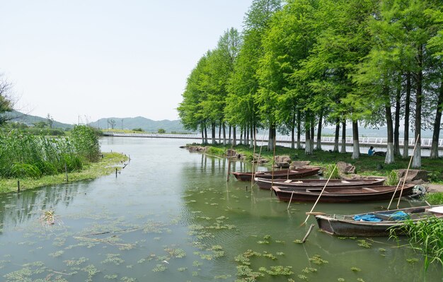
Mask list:
POLYGON ((231 28, 188 77, 179 116, 187 129, 213 142, 253 146, 258 129, 292 134, 292 148, 321 149, 321 129, 335 125, 334 151, 345 152, 352 124, 352 158, 359 158, 358 126, 387 127, 386 163, 408 157, 408 132, 418 140, 413 167, 421 166, 420 130, 433 128, 438 157, 443 104, 441 0, 253 0, 243 31, 231 28), (405 147, 400 147, 404 121, 405 147), (317 132, 315 132, 315 129, 317 132), (223 130, 223 133, 221 132, 223 130), (297 133, 297 139, 295 134, 297 133))

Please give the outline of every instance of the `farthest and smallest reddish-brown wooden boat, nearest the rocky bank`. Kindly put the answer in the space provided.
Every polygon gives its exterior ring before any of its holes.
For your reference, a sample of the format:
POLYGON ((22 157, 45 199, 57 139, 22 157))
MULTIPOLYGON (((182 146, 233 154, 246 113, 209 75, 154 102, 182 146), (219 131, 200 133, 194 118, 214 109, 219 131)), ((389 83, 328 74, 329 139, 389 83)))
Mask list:
POLYGON ((251 181, 253 177, 260 177, 266 179, 292 179, 311 175, 316 175, 320 168, 298 168, 297 170, 274 170, 260 171, 260 172, 232 172, 237 180, 251 181))

